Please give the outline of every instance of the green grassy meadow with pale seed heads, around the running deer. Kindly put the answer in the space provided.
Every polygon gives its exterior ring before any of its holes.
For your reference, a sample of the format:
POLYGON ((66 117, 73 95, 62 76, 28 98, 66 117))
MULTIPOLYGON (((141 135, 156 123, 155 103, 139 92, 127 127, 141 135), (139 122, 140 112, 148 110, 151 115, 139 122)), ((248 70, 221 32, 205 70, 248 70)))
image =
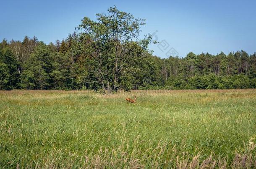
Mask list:
POLYGON ((255 146, 255 89, 0 91, 0 168, 255 168, 255 146))

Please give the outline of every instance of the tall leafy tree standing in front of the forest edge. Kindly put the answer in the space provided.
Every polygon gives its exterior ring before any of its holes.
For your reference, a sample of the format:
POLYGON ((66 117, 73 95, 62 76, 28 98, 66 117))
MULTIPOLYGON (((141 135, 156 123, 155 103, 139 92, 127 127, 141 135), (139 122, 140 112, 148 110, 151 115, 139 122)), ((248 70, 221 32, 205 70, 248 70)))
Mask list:
POLYGON ((108 15, 97 14, 97 21, 85 17, 78 29, 84 30, 80 36, 86 44, 86 54, 97 64, 99 83, 103 89, 107 85, 110 92, 121 87, 120 78, 127 61, 133 59, 133 55, 128 53, 131 42, 135 41, 145 48, 149 41, 136 41, 141 25, 145 24, 143 19, 134 18, 116 7, 110 8, 108 12, 108 15))

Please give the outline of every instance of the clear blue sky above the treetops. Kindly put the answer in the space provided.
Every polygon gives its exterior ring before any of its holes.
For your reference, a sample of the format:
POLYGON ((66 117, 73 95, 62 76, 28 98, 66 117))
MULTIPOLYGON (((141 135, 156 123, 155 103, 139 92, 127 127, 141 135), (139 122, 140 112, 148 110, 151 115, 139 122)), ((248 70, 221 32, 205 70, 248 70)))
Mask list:
POLYGON ((84 16, 95 19, 113 5, 146 19, 141 37, 157 30, 158 41, 169 47, 149 48, 162 58, 169 48, 180 57, 188 52, 256 51, 255 0, 0 0, 0 40, 35 35, 47 44, 55 42, 73 33, 84 16))

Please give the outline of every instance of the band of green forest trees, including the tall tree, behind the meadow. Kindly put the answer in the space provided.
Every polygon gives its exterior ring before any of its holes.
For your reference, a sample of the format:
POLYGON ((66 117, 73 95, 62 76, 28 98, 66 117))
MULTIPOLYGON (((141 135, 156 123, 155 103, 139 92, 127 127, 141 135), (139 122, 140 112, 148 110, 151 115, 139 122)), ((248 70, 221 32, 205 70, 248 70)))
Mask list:
POLYGON ((151 35, 139 40, 144 21, 114 6, 108 14, 97 14, 97 21, 83 18, 62 41, 4 39, 0 90, 256 88, 256 53, 159 58, 148 50, 151 35))

